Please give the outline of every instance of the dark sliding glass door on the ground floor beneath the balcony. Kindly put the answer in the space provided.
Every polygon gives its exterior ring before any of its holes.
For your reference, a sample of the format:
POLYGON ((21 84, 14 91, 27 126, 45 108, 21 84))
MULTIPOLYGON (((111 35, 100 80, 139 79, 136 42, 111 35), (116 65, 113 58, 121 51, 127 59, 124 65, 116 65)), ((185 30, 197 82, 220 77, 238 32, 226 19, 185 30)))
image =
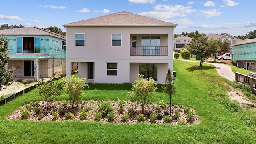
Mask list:
POLYGON ((139 73, 143 78, 153 78, 157 81, 157 64, 155 63, 140 63, 139 73))

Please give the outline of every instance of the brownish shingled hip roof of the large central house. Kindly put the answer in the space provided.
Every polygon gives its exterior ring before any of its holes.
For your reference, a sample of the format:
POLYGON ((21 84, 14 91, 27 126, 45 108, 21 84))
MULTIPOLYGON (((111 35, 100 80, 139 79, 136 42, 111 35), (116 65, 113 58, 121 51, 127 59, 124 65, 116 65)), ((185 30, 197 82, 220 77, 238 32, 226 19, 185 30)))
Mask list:
POLYGON ((88 20, 63 24, 62 26, 177 26, 177 24, 123 11, 88 20))

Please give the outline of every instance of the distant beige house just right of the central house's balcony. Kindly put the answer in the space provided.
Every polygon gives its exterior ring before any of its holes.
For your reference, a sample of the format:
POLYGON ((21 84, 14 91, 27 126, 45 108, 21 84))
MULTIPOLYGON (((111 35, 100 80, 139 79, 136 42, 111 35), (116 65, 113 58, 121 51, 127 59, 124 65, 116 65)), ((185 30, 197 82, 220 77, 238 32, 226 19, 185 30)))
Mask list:
POLYGON ((178 36, 177 38, 174 38, 174 50, 180 51, 182 48, 186 48, 186 46, 189 44, 190 40, 192 40, 189 36, 178 36))

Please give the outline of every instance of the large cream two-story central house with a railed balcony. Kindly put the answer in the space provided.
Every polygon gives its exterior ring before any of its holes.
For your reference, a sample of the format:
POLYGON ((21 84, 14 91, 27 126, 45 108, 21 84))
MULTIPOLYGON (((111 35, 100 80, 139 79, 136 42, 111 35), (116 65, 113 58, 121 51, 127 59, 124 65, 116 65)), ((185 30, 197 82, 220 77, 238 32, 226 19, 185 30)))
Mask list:
POLYGON ((67 75, 78 62, 78 76, 92 83, 130 83, 138 74, 165 80, 173 69, 176 24, 118 12, 62 25, 67 29, 67 75))

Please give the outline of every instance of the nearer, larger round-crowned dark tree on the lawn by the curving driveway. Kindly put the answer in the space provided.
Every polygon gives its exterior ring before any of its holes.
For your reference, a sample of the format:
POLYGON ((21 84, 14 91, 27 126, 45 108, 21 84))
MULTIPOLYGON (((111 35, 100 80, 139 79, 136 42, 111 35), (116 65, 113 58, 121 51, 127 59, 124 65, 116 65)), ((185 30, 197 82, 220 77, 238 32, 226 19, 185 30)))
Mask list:
POLYGON ((187 49, 191 54, 200 57, 200 66, 204 62, 204 58, 211 55, 211 49, 207 42, 207 37, 204 34, 197 34, 189 43, 187 49))

